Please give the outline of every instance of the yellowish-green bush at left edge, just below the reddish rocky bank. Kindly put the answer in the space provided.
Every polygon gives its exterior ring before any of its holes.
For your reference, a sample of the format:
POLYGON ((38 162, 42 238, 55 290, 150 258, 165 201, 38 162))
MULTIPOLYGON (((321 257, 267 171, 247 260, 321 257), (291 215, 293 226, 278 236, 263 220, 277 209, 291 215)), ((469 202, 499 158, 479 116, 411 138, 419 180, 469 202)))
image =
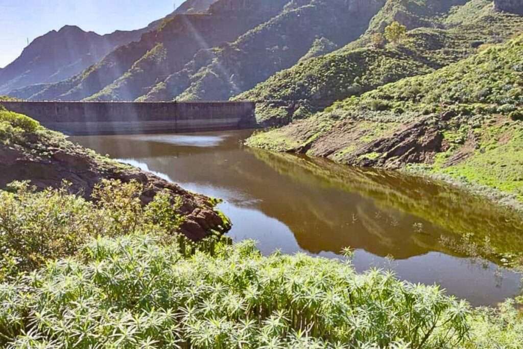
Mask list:
POLYGON ((73 255, 89 238, 135 232, 173 234, 181 218, 166 192, 142 207, 141 184, 103 181, 96 204, 60 189, 36 192, 28 183, 0 191, 0 281, 31 271, 48 260, 73 255))

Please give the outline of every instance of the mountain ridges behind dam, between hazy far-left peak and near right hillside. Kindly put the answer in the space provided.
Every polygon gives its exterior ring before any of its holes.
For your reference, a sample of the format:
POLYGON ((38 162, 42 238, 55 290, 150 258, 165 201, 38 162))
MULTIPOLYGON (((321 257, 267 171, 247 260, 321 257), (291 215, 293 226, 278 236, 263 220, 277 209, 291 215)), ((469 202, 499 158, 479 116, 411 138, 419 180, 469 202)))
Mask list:
POLYGON ((521 10, 519 3, 188 0, 153 22, 140 40, 113 49, 76 75, 9 95, 32 100, 251 99, 268 101, 257 107, 263 125, 283 125, 335 100, 433 72, 483 43, 506 39, 520 25, 514 14, 521 10), (408 40, 401 47, 374 48, 372 37, 394 20, 410 30, 408 40))

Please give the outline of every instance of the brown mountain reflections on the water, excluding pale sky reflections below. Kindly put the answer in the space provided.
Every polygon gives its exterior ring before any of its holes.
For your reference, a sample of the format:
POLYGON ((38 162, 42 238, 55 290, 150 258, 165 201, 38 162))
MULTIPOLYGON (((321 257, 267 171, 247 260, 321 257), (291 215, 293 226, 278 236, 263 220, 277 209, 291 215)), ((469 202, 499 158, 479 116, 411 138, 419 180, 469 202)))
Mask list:
POLYGON ((175 182, 231 195, 226 199, 234 205, 260 210, 286 224, 300 247, 312 253, 338 253, 345 246, 398 259, 429 251, 448 253, 438 242, 440 235, 458 237, 463 232, 474 232, 481 240, 490 236, 500 251, 523 247, 517 215, 449 186, 399 173, 242 149, 238 139, 245 132, 211 135, 81 141, 112 157, 136 159, 175 182))

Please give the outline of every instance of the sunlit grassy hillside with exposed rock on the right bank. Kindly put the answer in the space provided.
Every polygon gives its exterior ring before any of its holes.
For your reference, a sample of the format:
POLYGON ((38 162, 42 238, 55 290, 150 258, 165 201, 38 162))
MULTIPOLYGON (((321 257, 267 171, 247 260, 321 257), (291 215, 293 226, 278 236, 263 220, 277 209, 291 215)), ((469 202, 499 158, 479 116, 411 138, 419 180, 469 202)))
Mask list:
POLYGON ((523 202, 522 54, 519 36, 434 73, 345 99, 248 144, 444 175, 523 202))

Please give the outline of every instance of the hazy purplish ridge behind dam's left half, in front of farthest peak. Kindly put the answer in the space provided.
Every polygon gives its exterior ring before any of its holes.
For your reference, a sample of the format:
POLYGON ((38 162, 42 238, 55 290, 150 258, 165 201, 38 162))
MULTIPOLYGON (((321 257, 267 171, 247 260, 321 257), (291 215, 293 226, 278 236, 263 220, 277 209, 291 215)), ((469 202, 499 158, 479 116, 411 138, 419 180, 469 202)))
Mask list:
POLYGON ((287 2, 219 0, 208 13, 174 15, 140 41, 118 47, 68 80, 30 87, 31 95, 28 89, 12 95, 29 99, 135 99, 162 77, 182 69, 199 50, 235 40, 277 15, 287 2))

